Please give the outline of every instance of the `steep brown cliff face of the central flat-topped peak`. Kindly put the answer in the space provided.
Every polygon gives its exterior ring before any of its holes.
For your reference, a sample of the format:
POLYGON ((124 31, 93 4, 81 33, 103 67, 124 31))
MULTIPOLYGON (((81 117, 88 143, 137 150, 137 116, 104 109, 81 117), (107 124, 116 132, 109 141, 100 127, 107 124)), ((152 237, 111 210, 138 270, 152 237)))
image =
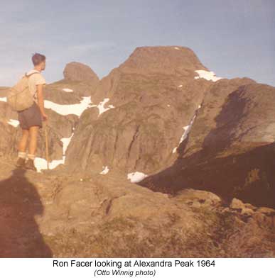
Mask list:
POLYGON ((65 164, 75 169, 151 173, 167 167, 175 147, 214 83, 195 79, 205 68, 187 47, 138 47, 104 77, 92 95, 105 113, 80 118, 65 164))

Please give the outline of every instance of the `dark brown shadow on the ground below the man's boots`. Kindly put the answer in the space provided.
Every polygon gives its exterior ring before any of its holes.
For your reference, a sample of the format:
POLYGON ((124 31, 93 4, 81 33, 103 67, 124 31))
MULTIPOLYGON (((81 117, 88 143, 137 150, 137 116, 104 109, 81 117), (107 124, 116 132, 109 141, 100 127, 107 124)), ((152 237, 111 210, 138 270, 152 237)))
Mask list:
POLYGON ((0 181, 0 257, 53 257, 34 219, 43 205, 25 172, 14 169, 0 181))

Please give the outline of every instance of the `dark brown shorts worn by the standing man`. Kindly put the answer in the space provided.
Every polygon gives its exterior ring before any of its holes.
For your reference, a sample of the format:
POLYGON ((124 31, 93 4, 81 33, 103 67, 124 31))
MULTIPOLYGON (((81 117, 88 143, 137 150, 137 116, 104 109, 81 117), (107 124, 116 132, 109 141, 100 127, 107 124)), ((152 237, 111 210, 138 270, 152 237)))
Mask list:
POLYGON ((42 128, 42 115, 37 103, 33 102, 30 108, 18 111, 18 121, 22 129, 28 129, 34 125, 42 128))

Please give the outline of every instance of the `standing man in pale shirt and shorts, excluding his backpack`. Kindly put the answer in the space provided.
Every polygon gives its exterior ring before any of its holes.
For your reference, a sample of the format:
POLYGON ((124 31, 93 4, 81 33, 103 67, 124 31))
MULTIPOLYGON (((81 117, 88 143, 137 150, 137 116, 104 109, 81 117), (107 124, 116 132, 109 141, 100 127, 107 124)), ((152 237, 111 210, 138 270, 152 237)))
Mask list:
POLYGON ((36 157, 38 131, 39 128, 42 128, 42 120, 48 120, 48 116, 45 114, 43 99, 45 79, 41 74, 41 71, 45 69, 45 55, 35 53, 31 59, 34 67, 26 75, 28 76, 29 89, 33 95, 33 105, 30 108, 18 112, 18 121, 22 128, 22 136, 18 142, 16 167, 24 167, 36 171, 34 159, 36 157), (27 144, 28 155, 26 154, 27 144), (27 157, 28 160, 26 161, 27 157))

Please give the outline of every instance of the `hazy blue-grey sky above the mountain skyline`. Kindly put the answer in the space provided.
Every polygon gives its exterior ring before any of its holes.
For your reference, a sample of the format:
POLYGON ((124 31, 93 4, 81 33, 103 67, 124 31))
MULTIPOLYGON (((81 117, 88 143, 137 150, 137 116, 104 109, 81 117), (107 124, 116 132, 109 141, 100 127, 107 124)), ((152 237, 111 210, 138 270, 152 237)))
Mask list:
POLYGON ((102 78, 135 47, 190 47, 218 77, 250 77, 275 86, 274 0, 1 1, 0 86, 47 57, 47 83, 68 62, 102 78))

